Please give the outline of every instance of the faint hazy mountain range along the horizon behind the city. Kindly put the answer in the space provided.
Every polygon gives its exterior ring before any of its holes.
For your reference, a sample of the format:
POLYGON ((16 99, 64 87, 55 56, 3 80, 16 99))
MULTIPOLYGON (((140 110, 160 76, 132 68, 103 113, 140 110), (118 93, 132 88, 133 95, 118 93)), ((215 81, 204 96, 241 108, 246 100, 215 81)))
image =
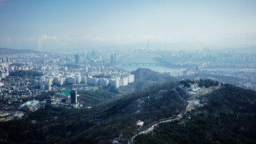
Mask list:
MULTIPOLYGON (((236 51, 236 52, 256 52, 256 45, 252 45, 250 47, 212 47, 209 44, 202 44, 202 43, 188 43, 188 42, 177 42, 177 43, 161 43, 161 42, 152 42, 149 43, 148 49, 149 51, 180 51, 184 49, 185 51, 197 51, 198 49, 204 49, 205 47, 209 48, 210 50, 225 50, 225 51, 236 51)), ((90 49, 100 50, 100 49, 109 49, 109 50, 125 50, 125 49, 137 49, 141 51, 147 50, 146 43, 137 43, 137 44, 125 44, 125 45, 111 45, 111 46, 102 46, 102 47, 80 47, 77 49, 72 49, 72 51, 86 51, 90 49)), ((62 49, 47 49, 45 51, 70 51, 70 49, 63 47, 62 49)), ((12 48, 1 48, 0 47, 0 54, 21 54, 21 53, 31 53, 35 52, 38 53, 39 51, 34 51, 31 49, 12 49, 12 48)))

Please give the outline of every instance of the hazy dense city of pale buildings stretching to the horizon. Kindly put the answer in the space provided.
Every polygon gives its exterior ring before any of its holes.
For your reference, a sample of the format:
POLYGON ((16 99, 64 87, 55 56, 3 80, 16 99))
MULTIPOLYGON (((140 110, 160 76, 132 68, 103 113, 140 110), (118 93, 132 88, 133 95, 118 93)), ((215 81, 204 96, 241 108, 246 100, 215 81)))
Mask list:
MULTIPOLYGON (((8 51, 8 49, 3 49, 8 51)), ((194 79, 195 67, 200 77, 220 83, 230 83, 256 90, 256 55, 248 52, 211 51, 207 48, 195 54, 148 51, 70 51, 6 54, 1 57, 1 110, 23 116, 22 111, 50 108, 79 108, 83 104, 72 99, 71 90, 95 91, 100 86, 108 90, 127 86, 134 82, 131 72, 121 65, 147 65, 148 63, 124 63, 125 58, 136 54, 152 56, 156 62, 150 65, 172 67, 161 72, 179 79, 194 79), (43 97, 45 93, 50 96, 43 97), (49 104, 47 104, 49 103, 49 104), (10 112, 12 111, 12 112, 10 112), (19 112, 17 112, 19 111, 19 112)), ((75 94, 74 97, 79 96, 75 94)), ((89 107, 90 108, 90 107, 89 107)), ((4 117, 2 118, 4 121, 4 117)))

